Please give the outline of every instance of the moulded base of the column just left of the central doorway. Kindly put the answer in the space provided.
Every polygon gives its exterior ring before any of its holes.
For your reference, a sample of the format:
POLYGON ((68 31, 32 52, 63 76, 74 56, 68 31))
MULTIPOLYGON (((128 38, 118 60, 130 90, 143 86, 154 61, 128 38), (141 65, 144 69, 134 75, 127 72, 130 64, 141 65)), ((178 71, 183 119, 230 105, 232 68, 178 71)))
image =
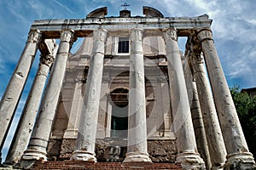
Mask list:
POLYGON ((70 160, 71 161, 94 161, 94 162, 97 161, 94 153, 90 153, 84 150, 73 151, 70 160))

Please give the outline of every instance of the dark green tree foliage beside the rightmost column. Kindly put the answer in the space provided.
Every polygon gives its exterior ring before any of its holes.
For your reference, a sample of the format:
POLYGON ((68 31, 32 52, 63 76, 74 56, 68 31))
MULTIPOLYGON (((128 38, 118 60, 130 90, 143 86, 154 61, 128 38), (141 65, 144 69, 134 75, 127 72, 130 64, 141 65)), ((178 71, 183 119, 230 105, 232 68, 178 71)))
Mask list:
POLYGON ((246 92, 241 92, 238 87, 231 88, 230 92, 248 148, 256 156, 256 96, 251 97, 246 92))

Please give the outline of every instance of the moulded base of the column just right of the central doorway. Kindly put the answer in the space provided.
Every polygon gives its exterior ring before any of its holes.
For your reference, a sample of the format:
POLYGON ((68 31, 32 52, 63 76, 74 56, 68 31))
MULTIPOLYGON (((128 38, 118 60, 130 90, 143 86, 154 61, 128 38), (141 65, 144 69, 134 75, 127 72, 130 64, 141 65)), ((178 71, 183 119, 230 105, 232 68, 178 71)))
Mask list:
POLYGON ((127 153, 125 160, 123 161, 125 162, 139 162, 139 161, 148 161, 148 162, 152 162, 151 159, 149 158, 148 153, 140 153, 140 152, 131 152, 131 153, 127 153))

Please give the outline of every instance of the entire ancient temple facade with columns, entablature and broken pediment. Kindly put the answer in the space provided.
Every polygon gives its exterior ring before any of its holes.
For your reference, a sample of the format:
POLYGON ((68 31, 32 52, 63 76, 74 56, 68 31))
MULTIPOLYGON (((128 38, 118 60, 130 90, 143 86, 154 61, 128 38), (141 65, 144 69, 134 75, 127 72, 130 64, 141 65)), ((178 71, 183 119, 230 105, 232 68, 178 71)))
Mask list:
POLYGON ((253 169, 207 14, 164 17, 150 7, 143 16, 127 9, 107 14, 97 8, 85 19, 34 21, 0 104, 2 149, 39 50, 3 165, 71 160, 253 169), (179 37, 187 37, 184 53, 179 37), (83 42, 72 54, 77 38, 83 42))

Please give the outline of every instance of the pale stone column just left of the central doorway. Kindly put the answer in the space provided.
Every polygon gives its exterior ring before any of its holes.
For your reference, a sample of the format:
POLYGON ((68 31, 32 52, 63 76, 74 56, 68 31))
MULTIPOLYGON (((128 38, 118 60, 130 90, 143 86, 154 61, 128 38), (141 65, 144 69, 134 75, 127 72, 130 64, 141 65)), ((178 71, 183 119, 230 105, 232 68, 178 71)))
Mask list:
POLYGON ((95 143, 98 111, 102 87, 102 71, 107 31, 93 32, 93 51, 90 58, 88 78, 85 85, 84 104, 80 116, 77 150, 71 160, 96 161, 95 143))

